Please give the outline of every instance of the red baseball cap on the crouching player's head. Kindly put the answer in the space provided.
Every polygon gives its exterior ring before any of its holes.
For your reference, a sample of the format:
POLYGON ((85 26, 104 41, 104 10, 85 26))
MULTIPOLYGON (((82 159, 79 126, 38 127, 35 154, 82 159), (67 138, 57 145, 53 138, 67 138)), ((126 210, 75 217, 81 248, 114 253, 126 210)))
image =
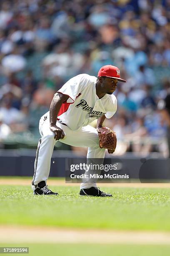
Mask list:
POLYGON ((98 72, 97 77, 112 77, 117 79, 120 82, 126 82, 126 80, 120 78, 120 70, 112 65, 106 65, 101 67, 101 69, 98 72))

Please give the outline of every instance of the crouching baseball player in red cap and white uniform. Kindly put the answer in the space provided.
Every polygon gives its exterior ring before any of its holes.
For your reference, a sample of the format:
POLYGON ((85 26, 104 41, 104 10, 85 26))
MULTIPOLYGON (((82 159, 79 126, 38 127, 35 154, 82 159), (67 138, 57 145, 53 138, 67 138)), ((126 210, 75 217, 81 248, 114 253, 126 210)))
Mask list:
MULTIPOLYGON (((88 147, 87 159, 104 159, 105 148, 100 148, 97 129, 89 123, 97 119, 97 128, 105 118, 111 118, 117 110, 113 92, 120 78, 120 70, 112 65, 102 67, 98 76, 79 74, 66 82, 55 93, 50 111, 40 118, 41 138, 37 146, 32 189, 35 195, 58 195, 47 187, 51 156, 56 141, 70 146, 88 147)), ((86 180, 80 184, 80 195, 111 197, 102 192, 95 182, 86 180)))

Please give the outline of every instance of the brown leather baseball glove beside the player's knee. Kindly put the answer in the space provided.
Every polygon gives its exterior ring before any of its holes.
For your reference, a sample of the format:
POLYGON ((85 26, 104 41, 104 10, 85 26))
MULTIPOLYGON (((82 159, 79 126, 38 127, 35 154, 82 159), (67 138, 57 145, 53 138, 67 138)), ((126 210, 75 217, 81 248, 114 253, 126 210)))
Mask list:
POLYGON ((107 148, 109 154, 115 152, 117 138, 116 133, 107 127, 97 128, 100 148, 107 148))

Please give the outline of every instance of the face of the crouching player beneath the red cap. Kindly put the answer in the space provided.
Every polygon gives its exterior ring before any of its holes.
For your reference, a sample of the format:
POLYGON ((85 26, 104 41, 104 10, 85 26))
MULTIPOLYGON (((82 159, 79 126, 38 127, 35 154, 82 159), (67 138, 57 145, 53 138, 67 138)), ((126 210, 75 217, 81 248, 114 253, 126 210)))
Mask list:
POLYGON ((118 80, 111 77, 105 77, 102 79, 102 90, 107 94, 112 94, 117 87, 118 80))

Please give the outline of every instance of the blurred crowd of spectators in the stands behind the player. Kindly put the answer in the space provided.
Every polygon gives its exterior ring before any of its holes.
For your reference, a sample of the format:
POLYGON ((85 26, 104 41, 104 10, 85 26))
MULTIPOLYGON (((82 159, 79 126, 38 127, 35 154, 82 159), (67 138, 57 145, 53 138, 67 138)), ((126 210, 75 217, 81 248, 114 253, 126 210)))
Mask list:
POLYGON ((106 121, 120 141, 117 154, 166 156, 157 105, 170 92, 170 0, 0 1, 0 140, 28 131, 39 137, 54 93, 106 64, 127 80, 106 121))

